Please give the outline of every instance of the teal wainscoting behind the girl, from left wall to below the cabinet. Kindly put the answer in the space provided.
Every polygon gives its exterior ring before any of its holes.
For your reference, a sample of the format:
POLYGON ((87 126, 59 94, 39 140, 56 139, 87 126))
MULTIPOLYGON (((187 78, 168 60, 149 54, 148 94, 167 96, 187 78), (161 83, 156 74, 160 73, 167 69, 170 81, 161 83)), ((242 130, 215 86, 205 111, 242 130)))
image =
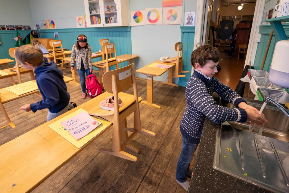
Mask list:
MULTIPOLYGON (((22 30, 19 31, 22 38, 24 38, 30 30, 22 30), (22 35, 22 31, 26 31, 25 35, 22 35)), ((3 39, 7 40, 7 45, 2 50, 0 44, 0 54, 4 53, 2 58, 11 58, 8 54, 8 49, 10 47, 14 47, 16 41, 13 39, 16 37, 16 31, 11 33, 11 31, 4 31, 6 35, 4 38, 0 36, 0 40, 2 42, 3 39), (7 53, 6 53, 7 52, 7 53), (8 57, 9 56, 9 57, 8 57)), ((100 39, 108 38, 110 43, 115 43, 117 55, 123 54, 132 54, 132 41, 131 41, 131 27, 88 27, 88 28, 67 28, 67 29, 49 29, 49 30, 41 30, 40 37, 41 38, 54 38, 54 40, 62 40, 62 45, 64 48, 70 49, 73 44, 76 43, 76 38, 79 34, 84 34, 87 37, 88 44, 92 48, 92 52, 98 52, 101 49, 99 44, 100 39), (54 32, 58 33, 58 38, 54 38, 54 32)), ((2 31, 0 31, 0 35, 2 31)), ((3 43, 2 43, 3 45, 3 43)), ((100 58, 92 59, 92 62, 97 62, 101 60, 100 58)), ((124 67, 128 65, 127 62, 120 63, 119 67, 124 67)), ((115 69, 115 66, 112 66, 110 69, 115 69)))

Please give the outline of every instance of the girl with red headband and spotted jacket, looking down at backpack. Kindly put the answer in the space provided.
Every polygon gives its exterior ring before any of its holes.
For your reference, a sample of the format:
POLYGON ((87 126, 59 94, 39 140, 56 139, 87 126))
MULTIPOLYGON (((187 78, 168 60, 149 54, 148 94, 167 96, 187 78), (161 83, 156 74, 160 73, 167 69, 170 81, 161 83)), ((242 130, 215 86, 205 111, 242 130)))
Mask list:
POLYGON ((82 89, 81 99, 85 99, 87 93, 85 91, 85 74, 93 73, 91 62, 91 48, 87 43, 87 38, 83 34, 77 36, 76 44, 71 49, 71 70, 74 70, 74 61, 76 58, 76 68, 80 77, 82 89))

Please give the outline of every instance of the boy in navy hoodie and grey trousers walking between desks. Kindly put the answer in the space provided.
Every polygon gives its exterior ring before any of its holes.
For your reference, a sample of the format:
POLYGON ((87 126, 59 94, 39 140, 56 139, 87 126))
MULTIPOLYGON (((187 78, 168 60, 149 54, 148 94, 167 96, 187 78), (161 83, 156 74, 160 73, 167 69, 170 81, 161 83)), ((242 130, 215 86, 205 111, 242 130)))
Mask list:
POLYGON ((36 112, 48 108, 47 121, 67 112, 70 95, 56 63, 52 61, 43 64, 42 51, 32 45, 19 47, 15 52, 15 58, 25 69, 34 70, 36 83, 42 94, 41 101, 23 105, 20 109, 36 112))

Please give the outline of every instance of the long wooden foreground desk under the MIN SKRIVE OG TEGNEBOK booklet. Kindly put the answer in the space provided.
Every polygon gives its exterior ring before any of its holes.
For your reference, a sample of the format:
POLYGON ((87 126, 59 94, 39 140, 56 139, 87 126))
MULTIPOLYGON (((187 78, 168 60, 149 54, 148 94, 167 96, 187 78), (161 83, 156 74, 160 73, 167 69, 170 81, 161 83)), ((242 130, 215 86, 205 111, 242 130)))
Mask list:
MULTIPOLYGON (((128 94, 119 93, 120 98, 125 95, 128 94)), ((85 111, 91 110, 99 104, 101 98, 101 95, 96 96, 55 119, 1 145, 0 190, 2 192, 32 191, 110 128, 112 124, 78 149, 48 127, 51 123, 79 108, 85 111)))

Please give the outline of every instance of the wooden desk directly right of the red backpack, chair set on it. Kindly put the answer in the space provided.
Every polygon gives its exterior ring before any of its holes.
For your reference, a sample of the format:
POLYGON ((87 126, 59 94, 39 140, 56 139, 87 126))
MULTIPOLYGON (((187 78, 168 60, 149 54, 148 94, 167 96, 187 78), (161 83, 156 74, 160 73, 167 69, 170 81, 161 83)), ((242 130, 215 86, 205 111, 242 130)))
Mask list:
MULTIPOLYGON (((133 63, 133 59, 135 59, 137 57, 139 57, 139 55, 123 54, 123 55, 118 55, 117 59, 122 59, 122 60, 118 61, 118 63, 129 61, 129 64, 131 64, 131 63, 133 63)), ((99 81, 100 81, 101 85, 102 85, 102 76, 104 74, 103 70, 104 70, 104 68, 106 68, 105 67, 105 62, 106 62, 106 60, 101 60, 101 61, 92 63, 93 66, 98 68, 99 81)), ((110 62, 109 66, 116 65, 116 64, 117 64, 116 61, 110 62)))

